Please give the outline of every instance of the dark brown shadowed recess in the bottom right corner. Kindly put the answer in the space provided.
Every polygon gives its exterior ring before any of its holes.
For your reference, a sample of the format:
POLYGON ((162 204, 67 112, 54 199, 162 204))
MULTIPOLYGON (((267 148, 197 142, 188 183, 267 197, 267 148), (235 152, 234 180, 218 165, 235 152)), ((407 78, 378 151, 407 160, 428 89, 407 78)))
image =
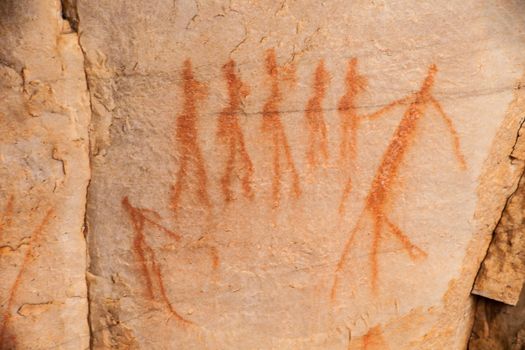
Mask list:
POLYGON ((480 298, 470 338, 470 350, 521 350, 525 348, 525 293, 516 306, 480 298))

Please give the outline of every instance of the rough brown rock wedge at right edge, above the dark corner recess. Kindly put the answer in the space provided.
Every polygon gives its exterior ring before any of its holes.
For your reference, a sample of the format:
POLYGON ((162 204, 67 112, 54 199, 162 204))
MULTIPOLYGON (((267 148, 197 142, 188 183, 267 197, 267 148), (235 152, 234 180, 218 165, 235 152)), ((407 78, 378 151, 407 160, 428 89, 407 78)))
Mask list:
MULTIPOLYGON (((525 156, 523 149, 513 154, 521 160, 525 156)), ((524 283, 525 177, 522 176, 518 190, 509 199, 496 227, 487 256, 476 277, 473 293, 516 305, 524 283)))

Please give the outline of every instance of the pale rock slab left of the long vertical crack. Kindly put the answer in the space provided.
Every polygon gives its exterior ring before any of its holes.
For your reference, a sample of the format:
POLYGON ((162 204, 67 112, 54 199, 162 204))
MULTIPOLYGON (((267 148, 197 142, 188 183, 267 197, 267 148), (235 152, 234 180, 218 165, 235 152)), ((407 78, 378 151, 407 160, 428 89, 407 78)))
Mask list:
POLYGON ((89 345, 89 95, 60 2, 0 2, 0 349, 89 345))

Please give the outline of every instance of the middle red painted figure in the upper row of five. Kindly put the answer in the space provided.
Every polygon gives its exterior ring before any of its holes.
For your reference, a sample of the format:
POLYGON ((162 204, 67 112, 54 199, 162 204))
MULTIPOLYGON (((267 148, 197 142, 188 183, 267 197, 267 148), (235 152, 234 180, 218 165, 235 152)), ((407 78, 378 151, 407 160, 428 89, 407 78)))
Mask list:
MULTIPOLYGON (((295 168, 290 145, 281 122, 279 108, 283 101, 283 95, 279 86, 280 70, 282 68, 277 66, 277 59, 275 51, 269 49, 266 53, 266 72, 270 78, 270 96, 263 107, 263 131, 270 135, 273 146, 273 178, 272 178, 272 200, 273 207, 279 207, 281 199, 281 180, 283 177, 283 170, 281 168, 281 158, 284 157, 284 162, 291 173, 292 181, 292 195, 294 198, 301 196, 301 185, 299 181, 299 174, 295 168)), ((283 80, 293 81, 290 74, 285 74, 283 80)), ((293 71, 293 70, 292 70, 293 71)))

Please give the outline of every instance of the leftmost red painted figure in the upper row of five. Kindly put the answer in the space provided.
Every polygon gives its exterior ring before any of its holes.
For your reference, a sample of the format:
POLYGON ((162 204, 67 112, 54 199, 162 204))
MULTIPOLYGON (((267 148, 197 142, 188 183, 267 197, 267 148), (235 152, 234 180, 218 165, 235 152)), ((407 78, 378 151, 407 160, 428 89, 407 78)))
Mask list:
POLYGON ((179 148, 180 165, 177 180, 173 186, 171 206, 177 213, 181 195, 188 177, 193 176, 196 184, 196 194, 203 206, 211 208, 208 196, 208 179, 204 166, 204 158, 197 142, 197 104, 207 94, 206 85, 200 83, 193 76, 190 60, 184 62, 182 71, 184 101, 182 113, 177 117, 176 140, 179 148), (191 173, 190 173, 191 171, 191 173))

